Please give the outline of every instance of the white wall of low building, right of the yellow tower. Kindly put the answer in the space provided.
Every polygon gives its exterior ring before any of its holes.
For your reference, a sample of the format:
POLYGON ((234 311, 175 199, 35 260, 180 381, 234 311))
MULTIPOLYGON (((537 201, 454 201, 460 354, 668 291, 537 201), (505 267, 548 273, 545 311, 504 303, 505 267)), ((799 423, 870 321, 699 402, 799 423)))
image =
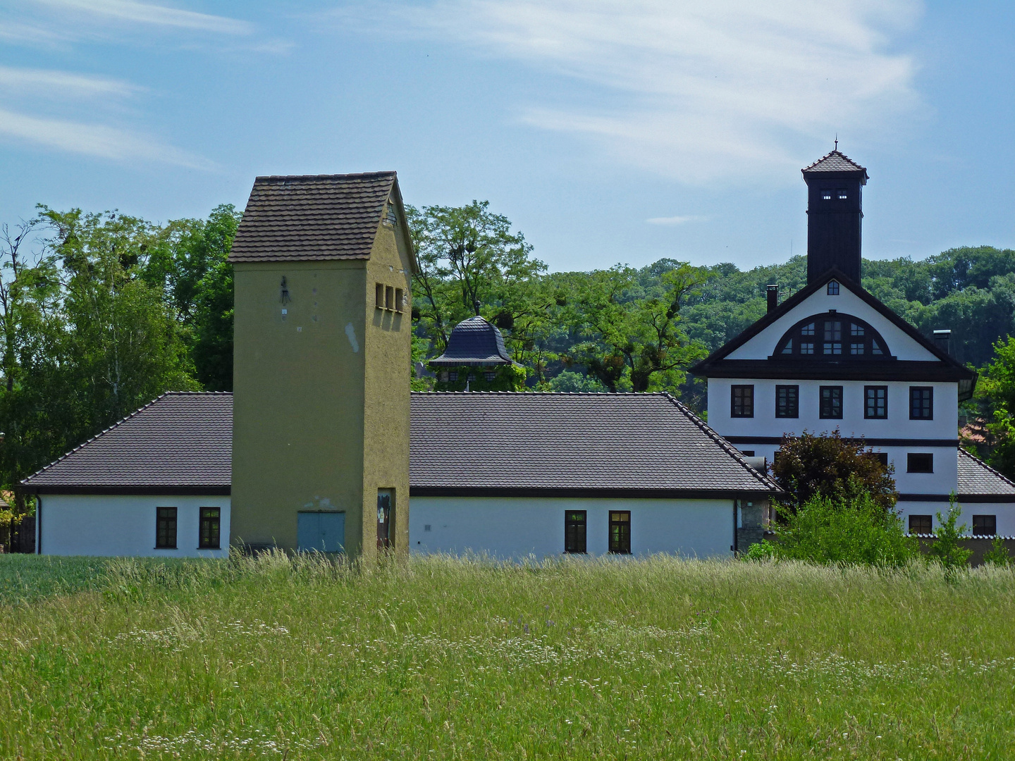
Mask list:
POLYGON ((501 559, 558 556, 564 551, 566 510, 588 511, 590 555, 608 551, 610 510, 630 510, 633 555, 733 554, 732 499, 412 497, 409 547, 414 553, 485 553, 501 559))

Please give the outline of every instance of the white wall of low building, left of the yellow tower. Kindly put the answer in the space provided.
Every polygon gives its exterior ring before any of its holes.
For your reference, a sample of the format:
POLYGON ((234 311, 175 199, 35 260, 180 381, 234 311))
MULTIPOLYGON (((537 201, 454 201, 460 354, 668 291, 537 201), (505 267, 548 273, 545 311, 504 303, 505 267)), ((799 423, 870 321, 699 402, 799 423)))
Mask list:
POLYGON ((226 557, 229 497, 44 494, 44 555, 226 557), (177 549, 155 549, 155 508, 177 508, 177 549), (199 510, 219 507, 221 549, 198 549, 199 510))

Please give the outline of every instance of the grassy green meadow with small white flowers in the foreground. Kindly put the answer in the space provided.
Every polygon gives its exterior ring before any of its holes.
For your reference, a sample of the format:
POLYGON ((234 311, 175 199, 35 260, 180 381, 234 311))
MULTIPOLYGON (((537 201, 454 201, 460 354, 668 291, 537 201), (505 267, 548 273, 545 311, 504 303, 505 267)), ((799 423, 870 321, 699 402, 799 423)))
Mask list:
POLYGON ((1015 575, 0 556, 0 757, 1008 759, 1015 575))

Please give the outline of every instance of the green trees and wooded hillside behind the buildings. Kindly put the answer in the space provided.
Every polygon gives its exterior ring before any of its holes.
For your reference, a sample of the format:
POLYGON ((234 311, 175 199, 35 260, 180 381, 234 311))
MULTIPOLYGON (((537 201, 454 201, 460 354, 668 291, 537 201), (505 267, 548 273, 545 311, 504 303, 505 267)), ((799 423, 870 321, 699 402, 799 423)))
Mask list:
MULTIPOLYGON (((486 202, 406 212, 419 264, 414 364, 479 314, 532 390, 670 391, 703 412, 704 386, 687 368, 764 314, 769 283, 784 298, 806 284, 804 257, 746 271, 661 259, 548 272, 486 202)), ((0 227, 0 486, 158 394, 231 390, 227 256, 240 219, 230 205, 164 223, 40 206, 0 227)), ((1015 251, 865 261, 863 284, 925 334, 950 328, 959 361, 984 368, 968 412, 993 426, 997 451, 1012 453, 998 462, 1015 474, 1015 344, 998 343, 1015 334, 1015 251)), ((412 384, 431 378, 414 370, 412 384)))

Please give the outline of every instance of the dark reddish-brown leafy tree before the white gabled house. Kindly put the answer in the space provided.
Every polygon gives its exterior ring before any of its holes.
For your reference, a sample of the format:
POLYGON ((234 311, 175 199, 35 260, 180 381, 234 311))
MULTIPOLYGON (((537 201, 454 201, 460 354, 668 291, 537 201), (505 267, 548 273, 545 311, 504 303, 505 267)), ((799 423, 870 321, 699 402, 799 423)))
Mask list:
POLYGON ((893 465, 885 467, 862 440, 847 440, 837 428, 820 436, 807 430, 799 436, 784 436, 772 465, 772 475, 786 491, 791 509, 814 497, 842 503, 870 496, 882 509, 890 510, 898 498, 893 473, 893 465))

